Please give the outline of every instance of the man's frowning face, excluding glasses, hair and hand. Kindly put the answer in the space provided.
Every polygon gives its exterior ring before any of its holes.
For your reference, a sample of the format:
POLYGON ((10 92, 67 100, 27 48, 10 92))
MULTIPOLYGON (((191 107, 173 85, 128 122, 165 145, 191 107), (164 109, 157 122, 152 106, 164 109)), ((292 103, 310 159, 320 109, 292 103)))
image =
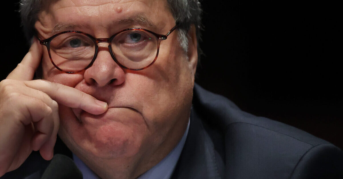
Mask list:
MULTIPOLYGON (((35 25, 41 39, 52 36, 54 27, 58 32, 77 30, 108 38, 132 27, 166 34, 173 26, 175 20, 163 0, 52 1, 35 25)), ((194 37, 195 31, 191 32, 194 37)), ((139 157, 140 162, 151 162, 144 157, 162 159, 178 143, 189 119, 197 53, 194 40, 189 42, 190 51, 184 52, 177 33, 161 42, 156 62, 141 71, 122 69, 112 59, 108 44, 99 43, 92 67, 67 74, 51 64, 44 48, 44 79, 108 103, 102 115, 59 105, 59 135, 72 152, 86 161, 139 157)))

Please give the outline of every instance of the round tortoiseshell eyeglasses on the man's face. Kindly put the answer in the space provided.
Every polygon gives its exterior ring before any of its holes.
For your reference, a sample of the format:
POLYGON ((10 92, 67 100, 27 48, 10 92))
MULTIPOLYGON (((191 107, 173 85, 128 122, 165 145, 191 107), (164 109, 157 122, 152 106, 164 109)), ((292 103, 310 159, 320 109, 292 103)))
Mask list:
POLYGON ((65 31, 40 40, 48 49, 51 63, 66 73, 81 72, 92 66, 98 53, 98 43, 108 43, 113 60, 128 70, 143 70, 157 59, 159 44, 177 28, 166 35, 143 28, 128 28, 110 38, 94 38, 80 31, 65 31))

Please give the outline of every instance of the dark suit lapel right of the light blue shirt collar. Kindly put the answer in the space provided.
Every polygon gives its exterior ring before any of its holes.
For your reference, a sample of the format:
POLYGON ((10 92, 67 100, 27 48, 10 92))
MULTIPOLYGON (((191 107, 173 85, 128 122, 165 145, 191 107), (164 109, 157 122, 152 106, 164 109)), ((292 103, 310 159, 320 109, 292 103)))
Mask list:
POLYGON ((187 140, 171 178, 222 178, 224 165, 217 165, 214 144, 194 110, 190 120, 187 140))

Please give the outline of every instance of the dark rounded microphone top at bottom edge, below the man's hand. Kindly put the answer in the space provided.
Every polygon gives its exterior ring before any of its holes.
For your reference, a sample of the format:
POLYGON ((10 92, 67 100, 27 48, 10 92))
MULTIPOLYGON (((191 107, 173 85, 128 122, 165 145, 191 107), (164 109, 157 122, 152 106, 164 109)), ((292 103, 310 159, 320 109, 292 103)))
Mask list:
POLYGON ((61 154, 55 154, 49 166, 42 175, 42 179, 83 179, 82 173, 74 161, 61 154))

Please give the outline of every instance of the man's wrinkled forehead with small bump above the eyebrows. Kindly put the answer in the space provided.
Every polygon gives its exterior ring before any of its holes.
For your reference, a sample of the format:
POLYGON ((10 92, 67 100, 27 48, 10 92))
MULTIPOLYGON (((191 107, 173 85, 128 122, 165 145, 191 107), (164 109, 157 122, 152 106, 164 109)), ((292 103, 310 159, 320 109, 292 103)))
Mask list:
POLYGON ((168 22, 175 24, 166 0, 51 0, 43 5, 39 21, 49 35, 63 30, 121 30, 130 25, 164 32, 168 22))

